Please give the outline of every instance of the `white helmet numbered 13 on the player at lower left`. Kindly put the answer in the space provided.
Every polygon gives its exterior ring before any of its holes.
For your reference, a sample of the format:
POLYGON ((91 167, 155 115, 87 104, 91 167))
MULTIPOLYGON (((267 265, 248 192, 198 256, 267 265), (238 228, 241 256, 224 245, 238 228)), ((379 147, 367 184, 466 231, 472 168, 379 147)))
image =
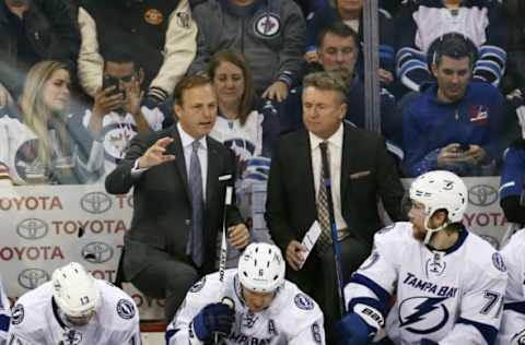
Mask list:
POLYGON ((52 297, 58 307, 72 318, 82 318, 96 311, 101 293, 93 276, 78 262, 55 270, 51 277, 52 297))

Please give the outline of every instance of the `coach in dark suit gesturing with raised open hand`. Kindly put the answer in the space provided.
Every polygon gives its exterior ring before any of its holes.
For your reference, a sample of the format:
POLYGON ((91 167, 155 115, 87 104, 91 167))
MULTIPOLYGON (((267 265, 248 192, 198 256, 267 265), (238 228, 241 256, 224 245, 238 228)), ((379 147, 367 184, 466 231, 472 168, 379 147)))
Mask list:
MULTIPOLYGON (((170 321, 188 288, 215 270, 224 194, 235 180, 233 153, 208 136, 217 117, 209 79, 183 79, 174 97, 178 123, 137 135, 124 162, 106 178, 109 193, 135 187, 125 278, 147 296, 165 297, 170 321)), ((243 249, 249 233, 235 206, 228 207, 226 221, 230 242, 243 249)))

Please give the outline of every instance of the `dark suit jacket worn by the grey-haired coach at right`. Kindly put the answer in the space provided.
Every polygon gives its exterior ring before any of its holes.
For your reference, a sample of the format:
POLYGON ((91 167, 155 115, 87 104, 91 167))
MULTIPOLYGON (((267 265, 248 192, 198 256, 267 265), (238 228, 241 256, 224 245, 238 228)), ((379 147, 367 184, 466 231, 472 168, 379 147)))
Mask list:
MULTIPOLYGON (((314 186, 308 132, 281 136, 271 159, 265 217, 283 253, 291 240, 302 241, 317 217, 314 186)), ((374 233, 383 226, 377 197, 390 218, 402 218, 404 189, 381 136, 345 124, 340 186, 342 217, 365 246, 372 247, 374 233)), ((315 277, 316 264, 312 253, 300 274, 315 277)))

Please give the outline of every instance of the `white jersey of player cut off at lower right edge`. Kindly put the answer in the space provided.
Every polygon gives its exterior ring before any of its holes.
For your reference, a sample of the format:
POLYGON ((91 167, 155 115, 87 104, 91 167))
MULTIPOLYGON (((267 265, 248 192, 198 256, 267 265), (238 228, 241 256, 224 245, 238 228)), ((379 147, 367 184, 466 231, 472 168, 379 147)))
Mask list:
POLYGON ((503 318, 498 334, 499 345, 525 344, 525 231, 522 229, 511 237, 501 250, 509 267, 503 318))

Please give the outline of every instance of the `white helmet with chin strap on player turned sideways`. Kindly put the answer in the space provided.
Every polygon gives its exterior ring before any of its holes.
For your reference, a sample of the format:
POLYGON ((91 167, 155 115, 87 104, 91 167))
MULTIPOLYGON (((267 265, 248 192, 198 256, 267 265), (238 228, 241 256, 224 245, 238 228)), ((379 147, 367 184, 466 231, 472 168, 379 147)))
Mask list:
POLYGON ((425 243, 430 236, 446 227, 450 223, 462 222, 468 204, 468 191, 465 182, 455 174, 434 170, 416 178, 410 186, 410 199, 424 205, 425 243), (446 210, 450 222, 436 229, 428 227, 430 217, 438 210, 446 210))

